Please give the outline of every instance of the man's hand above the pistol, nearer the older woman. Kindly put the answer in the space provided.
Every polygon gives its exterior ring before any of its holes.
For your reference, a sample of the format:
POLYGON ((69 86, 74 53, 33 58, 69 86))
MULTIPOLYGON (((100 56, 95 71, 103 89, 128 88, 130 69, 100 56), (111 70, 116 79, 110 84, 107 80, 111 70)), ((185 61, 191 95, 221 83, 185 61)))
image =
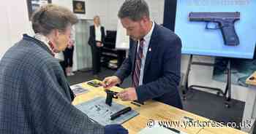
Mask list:
POLYGON ((101 82, 100 84, 104 87, 104 88, 110 88, 115 86, 116 84, 120 84, 121 80, 117 77, 117 76, 108 76, 106 77, 103 82, 101 82))

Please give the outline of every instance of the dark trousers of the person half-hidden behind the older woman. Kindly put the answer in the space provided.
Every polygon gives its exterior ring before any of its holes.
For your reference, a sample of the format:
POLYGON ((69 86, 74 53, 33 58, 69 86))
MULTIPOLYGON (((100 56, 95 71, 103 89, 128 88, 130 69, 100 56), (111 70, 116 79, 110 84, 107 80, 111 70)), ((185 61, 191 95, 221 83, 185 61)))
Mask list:
POLYGON ((73 53, 74 53, 74 47, 71 48, 66 48, 63 51, 64 54, 64 63, 65 67, 67 68, 68 66, 72 67, 73 66, 73 53))

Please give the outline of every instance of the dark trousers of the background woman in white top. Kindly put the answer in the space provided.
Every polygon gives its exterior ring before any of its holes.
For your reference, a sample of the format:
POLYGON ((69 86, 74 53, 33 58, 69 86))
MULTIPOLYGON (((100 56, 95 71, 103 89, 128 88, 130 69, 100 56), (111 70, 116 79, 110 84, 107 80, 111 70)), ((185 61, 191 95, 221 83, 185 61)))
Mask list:
POLYGON ((101 51, 100 47, 91 46, 91 58, 92 58, 92 74, 98 74, 100 71, 100 57, 101 51))

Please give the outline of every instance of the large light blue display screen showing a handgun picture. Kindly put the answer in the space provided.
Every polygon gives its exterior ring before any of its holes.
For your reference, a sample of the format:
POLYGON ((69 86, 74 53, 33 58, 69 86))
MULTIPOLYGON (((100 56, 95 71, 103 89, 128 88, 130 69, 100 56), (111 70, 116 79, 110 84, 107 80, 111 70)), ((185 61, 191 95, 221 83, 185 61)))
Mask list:
POLYGON ((252 58, 255 12, 256 1, 252 0, 177 1, 175 32, 181 37, 182 53, 252 58))

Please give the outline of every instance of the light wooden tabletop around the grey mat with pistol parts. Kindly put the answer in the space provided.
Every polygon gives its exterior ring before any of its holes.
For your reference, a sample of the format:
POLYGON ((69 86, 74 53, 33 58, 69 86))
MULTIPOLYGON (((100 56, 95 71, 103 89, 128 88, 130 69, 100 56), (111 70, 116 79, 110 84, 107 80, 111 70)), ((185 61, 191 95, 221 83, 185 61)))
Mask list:
MULTIPOLYGON (((96 79, 94 79, 96 80, 96 79)), ((103 87, 92 87, 86 82, 81 84, 83 87, 89 90, 84 94, 78 95, 75 100, 72 102, 73 105, 77 105, 79 103, 83 103, 85 101, 89 101, 92 98, 97 97, 106 97, 106 93, 103 87)), ((112 87, 110 90, 120 92, 120 87, 112 87)), ((236 130, 232 127, 211 127, 206 126, 204 127, 203 122, 214 122, 210 119, 205 117, 200 117, 196 114, 192 114, 188 111, 184 111, 181 109, 177 109, 173 106, 165 105, 164 103, 160 103, 157 101, 146 101, 145 105, 135 106, 134 104, 130 103, 129 101, 121 101, 120 99, 113 99, 116 103, 120 103, 125 106, 130 106, 135 111, 138 111, 139 115, 130 119, 127 122, 122 124, 125 128, 129 130, 129 133, 138 133, 140 130, 146 127, 146 123, 154 120, 154 121, 167 121, 170 122, 176 130, 181 130, 184 133, 189 134, 197 134, 201 133, 201 131, 207 131, 207 133, 244 133, 240 130, 236 130), (187 117, 193 119, 192 122, 188 123, 187 117), (199 123, 198 123, 199 122, 199 123), (174 126, 174 124, 176 126, 174 126), (178 125, 179 124, 179 125, 178 125)))

